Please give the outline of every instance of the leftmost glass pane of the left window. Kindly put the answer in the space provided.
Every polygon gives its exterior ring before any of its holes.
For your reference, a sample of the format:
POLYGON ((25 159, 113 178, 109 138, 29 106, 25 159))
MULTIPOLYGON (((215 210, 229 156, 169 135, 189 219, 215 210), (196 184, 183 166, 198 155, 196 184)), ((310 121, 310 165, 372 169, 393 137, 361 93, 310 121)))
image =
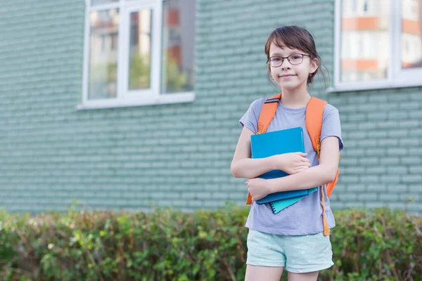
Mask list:
POLYGON ((88 89, 90 100, 117 96, 118 27, 118 9, 91 12, 88 89))

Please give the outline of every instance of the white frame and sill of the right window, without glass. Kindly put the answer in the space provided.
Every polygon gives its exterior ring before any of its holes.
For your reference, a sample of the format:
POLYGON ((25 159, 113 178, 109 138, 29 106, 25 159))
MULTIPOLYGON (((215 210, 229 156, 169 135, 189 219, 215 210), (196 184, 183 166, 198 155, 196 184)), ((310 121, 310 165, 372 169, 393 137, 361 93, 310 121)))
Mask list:
POLYGON ((334 85, 328 88, 327 92, 422 86, 422 67, 409 70, 401 69, 400 48, 402 40, 400 35, 402 34, 402 5, 400 0, 390 0, 390 18, 388 22, 390 55, 387 77, 385 79, 378 79, 374 81, 340 81, 342 22, 341 2, 342 0, 335 0, 334 85))

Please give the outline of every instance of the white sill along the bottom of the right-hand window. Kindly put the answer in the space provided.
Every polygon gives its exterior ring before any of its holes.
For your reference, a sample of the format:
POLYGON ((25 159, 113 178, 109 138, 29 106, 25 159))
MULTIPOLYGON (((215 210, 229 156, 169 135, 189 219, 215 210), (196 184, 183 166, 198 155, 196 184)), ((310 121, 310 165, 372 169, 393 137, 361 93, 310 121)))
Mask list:
POLYGON ((422 86, 421 81, 396 81, 396 82, 379 82, 379 83, 359 83, 354 84, 343 84, 338 86, 328 87, 326 93, 337 93, 346 91, 365 91, 365 90, 376 90, 376 89, 391 89, 391 88, 404 88, 404 87, 417 87, 422 86))

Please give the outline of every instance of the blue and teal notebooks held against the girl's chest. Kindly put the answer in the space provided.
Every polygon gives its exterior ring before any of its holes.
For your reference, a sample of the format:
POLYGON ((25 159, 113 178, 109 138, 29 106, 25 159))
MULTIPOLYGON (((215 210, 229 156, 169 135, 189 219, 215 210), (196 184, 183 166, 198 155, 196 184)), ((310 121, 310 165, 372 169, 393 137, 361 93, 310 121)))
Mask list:
MULTIPOLYGON (((305 152, 301 127, 252 135, 250 136, 250 145, 252 158, 264 158, 289 152, 305 152)), ((281 178, 287 175, 284 171, 274 170, 262 174, 260 178, 281 178)), ((269 203, 274 214, 277 214, 279 211, 295 204, 316 190, 317 188, 310 188, 306 190, 275 192, 256 202, 257 204, 269 203)))

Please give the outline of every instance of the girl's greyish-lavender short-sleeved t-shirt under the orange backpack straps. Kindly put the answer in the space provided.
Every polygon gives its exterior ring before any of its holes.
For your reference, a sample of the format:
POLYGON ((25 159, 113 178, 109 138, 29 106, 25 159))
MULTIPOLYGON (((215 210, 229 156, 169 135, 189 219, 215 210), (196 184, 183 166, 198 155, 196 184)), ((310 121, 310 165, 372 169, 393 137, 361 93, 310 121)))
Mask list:
MULTIPOLYGON (((255 100, 249 107, 245 115, 239 120, 242 126, 257 132, 257 121, 260 117, 262 105, 266 98, 255 100)), ((301 126, 305 139, 305 152, 311 166, 318 165, 316 152, 312 148, 311 139, 305 126, 305 110, 302 108, 288 108, 279 103, 276 115, 269 124, 267 132, 281 129, 290 129, 301 126)), ((343 150, 343 141, 341 138, 340 117, 338 110, 333 105, 327 104, 324 108, 324 117, 321 129, 321 141, 328 136, 338 137, 340 150, 343 150)), ((321 187, 311 195, 304 197, 299 202, 283 209, 278 214, 271 211, 269 204, 257 204, 252 202, 248 220, 245 226, 263 233, 278 235, 309 235, 321 233, 324 230, 322 221, 321 187)), ((330 208, 330 201, 326 196, 326 187, 324 186, 326 218, 328 226, 335 226, 333 212, 330 208)))

